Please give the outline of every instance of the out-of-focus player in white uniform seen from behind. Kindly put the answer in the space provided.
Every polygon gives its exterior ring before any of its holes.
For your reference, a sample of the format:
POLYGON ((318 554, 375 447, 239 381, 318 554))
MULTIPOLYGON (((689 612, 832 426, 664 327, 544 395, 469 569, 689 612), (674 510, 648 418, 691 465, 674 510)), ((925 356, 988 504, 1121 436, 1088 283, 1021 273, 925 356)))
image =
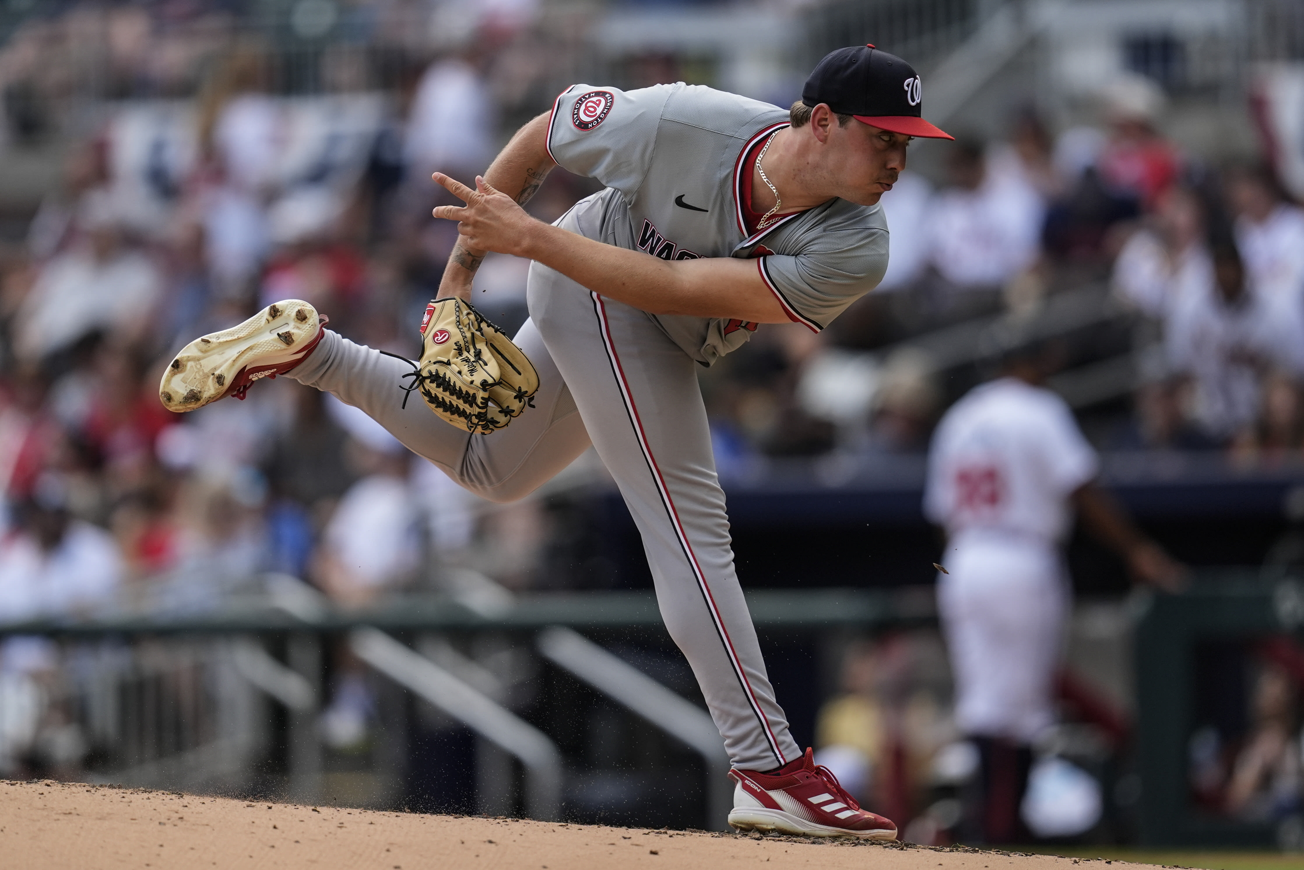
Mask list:
POLYGON ((1003 377, 941 419, 925 513, 947 532, 938 603, 956 683, 956 723, 979 750, 970 837, 1026 837, 1018 817, 1033 738, 1051 725, 1071 588, 1061 544, 1074 511, 1136 579, 1176 590, 1183 569, 1093 480, 1098 462, 1068 406, 1039 386, 1047 355, 1009 355, 1003 377))

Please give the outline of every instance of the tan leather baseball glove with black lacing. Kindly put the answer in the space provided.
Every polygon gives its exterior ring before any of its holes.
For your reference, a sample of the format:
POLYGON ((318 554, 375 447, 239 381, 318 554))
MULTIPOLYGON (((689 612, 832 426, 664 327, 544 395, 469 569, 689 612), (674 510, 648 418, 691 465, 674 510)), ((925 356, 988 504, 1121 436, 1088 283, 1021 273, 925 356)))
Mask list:
POLYGON ((539 373, 502 330, 460 299, 437 299, 421 321, 413 386, 438 416, 467 432, 502 429, 533 407, 539 373))

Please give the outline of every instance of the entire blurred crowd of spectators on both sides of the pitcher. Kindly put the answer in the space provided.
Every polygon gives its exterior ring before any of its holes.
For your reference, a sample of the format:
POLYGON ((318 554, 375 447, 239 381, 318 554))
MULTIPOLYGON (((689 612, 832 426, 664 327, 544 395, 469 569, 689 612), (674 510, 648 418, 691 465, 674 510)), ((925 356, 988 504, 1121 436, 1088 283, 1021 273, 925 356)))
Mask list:
MULTIPOLYGON (((539 498, 477 500, 329 395, 282 378, 188 415, 156 398, 177 348, 286 297, 356 342, 416 355, 456 232, 428 217, 445 201, 429 172, 482 171, 580 74, 569 65, 579 52, 558 50, 572 38, 565 22, 529 0, 449 1, 433 16, 402 0, 295 8, 317 9, 289 22, 304 39, 352 35, 273 51, 205 4, 73 4, 0 47, 3 147, 51 141, 69 102, 121 100, 77 115, 86 130, 61 183, 0 244, 0 622, 181 614, 269 575, 342 608, 556 584, 542 553, 575 535, 566 518, 539 498)), ((682 70, 648 56, 617 83, 682 70)), ((1052 130, 1022 111, 1001 136, 944 146, 936 179, 902 173, 883 200, 891 265, 878 292, 822 335, 765 327, 702 373, 721 473, 767 458, 922 454, 987 373, 979 347, 971 370, 944 377, 921 337, 1026 326, 1056 297, 1097 290, 1103 331, 1078 330, 1085 340, 1063 353, 1065 365, 1129 360, 1103 406, 1114 416, 1090 430, 1097 447, 1304 462, 1304 211, 1266 163, 1184 153, 1162 132, 1163 103, 1157 85, 1124 77, 1101 93, 1098 124, 1052 130)), ((557 171, 529 209, 553 220, 595 189, 557 171)), ((526 269, 490 256, 477 274, 476 305, 509 331, 527 317, 526 269)), ((0 644, 0 773, 85 758, 38 697, 57 694, 56 656, 0 644)), ((374 698, 351 656, 330 668, 323 734, 356 745, 374 698)), ((1099 819, 1101 788, 1081 768, 1125 740, 1108 704, 1061 683, 1106 749, 1076 768, 1046 755, 1031 787, 1058 796, 1045 836, 1099 819)), ((1240 742, 1209 750, 1197 734, 1191 750, 1201 800, 1247 818, 1266 813, 1278 783, 1297 803, 1304 780, 1294 683, 1269 669, 1256 691, 1257 725, 1240 742)), ((940 639, 893 635, 846 651, 819 719, 822 763, 888 815, 915 818, 917 841, 965 836, 960 790, 977 760, 949 704, 940 639)))

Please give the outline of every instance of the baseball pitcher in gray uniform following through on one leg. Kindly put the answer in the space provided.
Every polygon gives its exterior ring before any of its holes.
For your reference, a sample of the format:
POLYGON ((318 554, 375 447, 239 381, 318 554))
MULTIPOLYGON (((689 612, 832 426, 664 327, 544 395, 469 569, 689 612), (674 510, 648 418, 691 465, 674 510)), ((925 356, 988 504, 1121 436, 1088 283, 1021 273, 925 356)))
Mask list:
POLYGON ((592 445, 643 536, 666 627, 733 760, 739 830, 893 839, 802 753, 765 676, 734 573, 698 367, 758 323, 819 331, 887 267, 878 206, 922 117, 919 77, 874 46, 824 57, 790 111, 685 83, 575 85, 526 124, 466 202, 459 243, 407 364, 318 326, 297 300, 186 346, 163 378, 188 411, 273 374, 334 393, 493 501, 592 445), (562 166, 606 188, 556 224, 522 205, 562 166), (485 252, 533 261, 509 340, 468 304, 485 252), (406 385, 407 393, 399 390, 406 385), (424 404, 408 402, 419 391, 424 404))

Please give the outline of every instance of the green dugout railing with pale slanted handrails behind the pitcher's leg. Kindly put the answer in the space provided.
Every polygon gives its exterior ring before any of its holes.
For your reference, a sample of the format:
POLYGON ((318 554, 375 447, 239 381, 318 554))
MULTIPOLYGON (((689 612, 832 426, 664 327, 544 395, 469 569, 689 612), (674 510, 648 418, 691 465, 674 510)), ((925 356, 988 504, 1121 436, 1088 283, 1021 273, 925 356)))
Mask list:
MULTIPOLYGON (((518 650, 565 672, 696 755, 704 780, 698 824, 725 827, 732 797, 724 776, 728 759, 700 699, 678 694, 592 639, 664 635, 651 592, 496 601, 411 596, 340 612, 289 578, 269 578, 263 588, 265 593, 228 596, 220 609, 124 610, 3 625, 0 638, 42 638, 63 650, 60 681, 65 685, 57 697, 47 697, 47 706, 57 707, 69 724, 83 725, 91 745, 82 776, 89 779, 275 794, 309 803, 323 800, 329 776, 318 723, 326 697, 323 665, 343 644, 393 689, 411 693, 476 734, 481 811, 562 818, 566 771, 556 741, 511 710, 493 677, 447 642, 506 635, 518 650), (116 672, 82 672, 76 681, 67 680, 68 665, 86 657, 124 664, 116 672), (142 667, 137 659, 168 663, 168 673, 190 672, 184 680, 155 676, 142 693, 132 682, 138 682, 142 667), (274 708, 270 712, 266 702, 274 708), (271 733, 269 721, 278 717, 282 728, 271 733), (100 724, 87 725, 93 720, 100 724), (282 757, 283 776, 275 781, 256 770, 269 751, 282 757), (494 788, 510 792, 515 780, 503 758, 520 763, 519 802, 510 793, 493 794, 494 788)), ((865 631, 932 620, 931 603, 918 595, 880 591, 758 591, 748 595, 748 605, 762 631, 865 631)), ((376 742, 399 745, 406 713, 395 712, 402 708, 393 702, 387 708, 376 742)), ((378 784, 357 802, 395 805, 402 760, 394 753, 373 763, 379 768, 378 784)))

